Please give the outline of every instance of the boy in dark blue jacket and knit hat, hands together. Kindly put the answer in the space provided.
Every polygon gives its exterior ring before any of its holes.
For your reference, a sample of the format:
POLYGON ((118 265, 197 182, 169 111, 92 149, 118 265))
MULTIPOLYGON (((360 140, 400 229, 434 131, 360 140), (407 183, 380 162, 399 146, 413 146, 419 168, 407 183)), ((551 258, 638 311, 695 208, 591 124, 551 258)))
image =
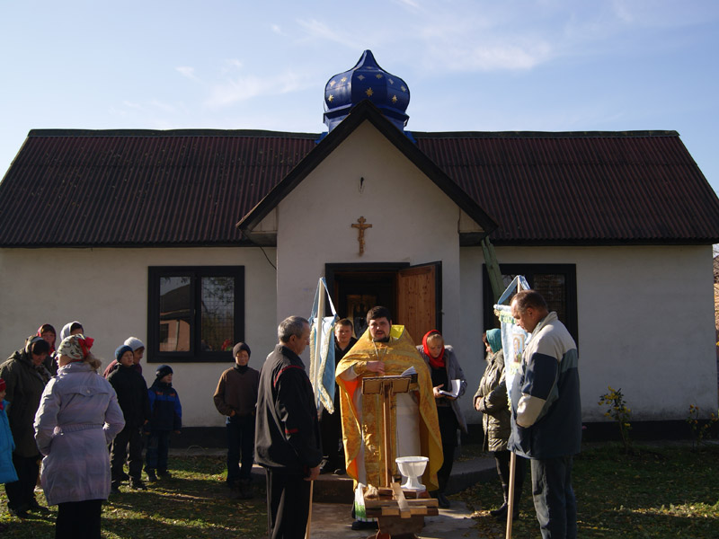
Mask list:
POLYGON ((182 406, 180 397, 173 389, 173 369, 161 365, 155 371, 155 382, 147 391, 150 398, 150 421, 146 425, 147 452, 145 472, 151 482, 170 479, 167 472, 167 453, 170 449, 170 433, 180 434, 182 429, 182 406), (156 474, 155 474, 156 472, 156 474))

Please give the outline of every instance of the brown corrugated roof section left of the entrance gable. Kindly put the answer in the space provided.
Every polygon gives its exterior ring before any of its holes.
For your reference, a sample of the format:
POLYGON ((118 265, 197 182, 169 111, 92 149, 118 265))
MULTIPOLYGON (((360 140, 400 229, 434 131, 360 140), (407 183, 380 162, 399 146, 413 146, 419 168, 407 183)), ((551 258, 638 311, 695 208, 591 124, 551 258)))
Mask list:
POLYGON ((267 131, 31 131, 0 183, 0 245, 228 245, 315 146, 267 131))

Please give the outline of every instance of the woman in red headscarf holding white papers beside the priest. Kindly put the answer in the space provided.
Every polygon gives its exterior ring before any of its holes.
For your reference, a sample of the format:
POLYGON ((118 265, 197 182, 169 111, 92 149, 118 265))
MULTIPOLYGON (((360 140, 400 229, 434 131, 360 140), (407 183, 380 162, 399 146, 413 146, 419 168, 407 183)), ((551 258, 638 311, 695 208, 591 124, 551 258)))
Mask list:
POLYGON ((448 508, 449 500, 444 491, 454 464, 457 429, 466 432, 465 416, 457 403, 457 399, 466 390, 465 373, 459 366, 455 350, 444 344, 444 338, 437 330, 428 331, 424 335, 422 346, 418 346, 417 351, 431 370, 432 393, 437 404, 439 433, 442 436, 442 453, 444 453, 444 464, 437 471, 439 489, 431 492, 431 495, 437 498, 440 508, 448 508))

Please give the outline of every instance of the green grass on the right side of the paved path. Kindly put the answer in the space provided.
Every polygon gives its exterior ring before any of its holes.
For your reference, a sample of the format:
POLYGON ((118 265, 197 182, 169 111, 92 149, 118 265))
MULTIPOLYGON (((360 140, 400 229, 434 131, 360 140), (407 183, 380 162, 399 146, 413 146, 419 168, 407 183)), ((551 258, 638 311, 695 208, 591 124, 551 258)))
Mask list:
MULTIPOLYGON (((528 473, 529 475, 529 473, 528 473)), ((585 447, 574 459, 573 487, 582 539, 692 537, 719 539, 719 446, 585 447)), ((539 536, 530 479, 524 484, 515 539, 539 536)), ((450 498, 475 509, 479 535, 504 537, 504 523, 489 515, 502 503, 499 479, 450 498)))

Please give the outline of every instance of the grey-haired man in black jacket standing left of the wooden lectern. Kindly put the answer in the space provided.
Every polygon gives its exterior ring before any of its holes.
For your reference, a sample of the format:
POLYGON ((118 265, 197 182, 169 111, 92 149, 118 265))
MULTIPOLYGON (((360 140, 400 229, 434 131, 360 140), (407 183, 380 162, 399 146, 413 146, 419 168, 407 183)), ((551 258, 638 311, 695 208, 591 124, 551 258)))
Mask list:
POLYGON ((255 462, 267 473, 271 539, 305 536, 310 482, 320 473, 322 444, 315 395, 299 355, 309 344, 309 323, 290 316, 277 329, 280 343, 260 373, 255 462))

